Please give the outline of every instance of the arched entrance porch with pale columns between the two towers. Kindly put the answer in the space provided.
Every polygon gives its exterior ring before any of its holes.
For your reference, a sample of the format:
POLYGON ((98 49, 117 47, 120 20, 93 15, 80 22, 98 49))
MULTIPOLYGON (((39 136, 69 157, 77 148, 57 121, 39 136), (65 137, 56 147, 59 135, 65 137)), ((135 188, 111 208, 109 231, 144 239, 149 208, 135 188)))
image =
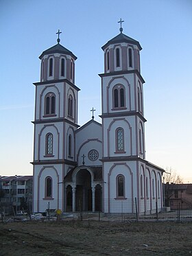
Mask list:
POLYGON ((75 167, 65 176, 64 185, 66 211, 101 211, 101 168, 75 167))

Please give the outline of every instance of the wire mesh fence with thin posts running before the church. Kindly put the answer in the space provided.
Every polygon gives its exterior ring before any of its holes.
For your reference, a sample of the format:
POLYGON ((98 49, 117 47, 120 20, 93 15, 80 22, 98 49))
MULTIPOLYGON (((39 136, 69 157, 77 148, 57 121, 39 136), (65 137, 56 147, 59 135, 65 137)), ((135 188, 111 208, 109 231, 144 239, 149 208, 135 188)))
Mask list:
POLYGON ((54 221, 54 220, 95 220, 95 221, 191 221, 192 202, 184 199, 184 203, 178 200, 171 207, 160 208, 158 201, 137 202, 134 200, 103 200, 102 205, 96 205, 93 211, 91 204, 86 209, 76 205, 76 211, 62 211, 58 205, 62 202, 39 201, 34 202, 40 211, 32 212, 32 202, 26 204, 25 209, 16 211, 14 205, 8 202, 0 202, 0 222, 11 221, 54 221))

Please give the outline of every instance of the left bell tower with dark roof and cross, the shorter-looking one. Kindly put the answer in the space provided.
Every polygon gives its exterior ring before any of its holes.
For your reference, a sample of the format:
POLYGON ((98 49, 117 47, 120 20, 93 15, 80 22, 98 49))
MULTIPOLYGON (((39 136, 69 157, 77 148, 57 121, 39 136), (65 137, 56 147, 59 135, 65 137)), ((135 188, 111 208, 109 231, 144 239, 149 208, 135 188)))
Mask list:
POLYGON ((76 163, 77 57, 60 45, 60 33, 57 44, 40 55, 40 82, 34 83, 34 211, 41 211, 47 200, 63 209, 62 181, 76 163))

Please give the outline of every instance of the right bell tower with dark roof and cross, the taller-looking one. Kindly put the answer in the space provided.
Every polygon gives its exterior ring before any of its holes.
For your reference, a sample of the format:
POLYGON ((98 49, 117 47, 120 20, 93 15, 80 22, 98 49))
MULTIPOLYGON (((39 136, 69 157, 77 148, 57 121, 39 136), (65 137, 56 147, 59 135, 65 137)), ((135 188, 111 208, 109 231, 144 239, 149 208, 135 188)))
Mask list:
MULTIPOLYGON (((123 23, 119 21, 120 25, 123 23)), ((124 198, 134 198, 133 183, 139 159, 145 159, 145 117, 140 69, 141 45, 120 33, 103 47, 104 73, 101 77, 103 169, 105 198, 123 199, 114 189, 115 177, 125 177, 124 198), (128 174, 130 176, 128 176, 128 174), (130 184, 129 184, 130 183, 130 184), (113 192, 114 191, 114 192, 113 192)), ((136 195, 136 194, 135 194, 136 195)))

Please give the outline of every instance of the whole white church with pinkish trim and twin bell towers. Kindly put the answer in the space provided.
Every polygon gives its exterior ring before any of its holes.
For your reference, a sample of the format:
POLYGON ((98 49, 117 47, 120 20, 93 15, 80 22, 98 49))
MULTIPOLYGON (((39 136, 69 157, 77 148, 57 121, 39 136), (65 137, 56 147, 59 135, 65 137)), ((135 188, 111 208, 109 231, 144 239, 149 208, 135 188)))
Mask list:
MULTIPOLYGON (((40 55, 34 116, 34 212, 152 213, 163 207, 164 170, 145 160, 141 45, 120 33, 106 43, 101 124, 77 124, 77 57, 58 43, 40 55)), ((81 108, 82 106, 80 106, 81 108)), ((93 110, 94 113, 94 110, 93 110)))

